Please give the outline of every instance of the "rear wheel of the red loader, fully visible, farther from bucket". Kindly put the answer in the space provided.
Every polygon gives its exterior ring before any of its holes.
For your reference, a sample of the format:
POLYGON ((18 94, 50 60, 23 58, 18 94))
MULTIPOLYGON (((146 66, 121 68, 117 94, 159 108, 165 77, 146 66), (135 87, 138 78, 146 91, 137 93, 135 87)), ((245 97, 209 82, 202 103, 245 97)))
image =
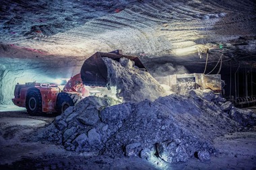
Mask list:
POLYGON ((26 95, 26 109, 31 116, 42 115, 42 96, 40 91, 30 91, 26 95))

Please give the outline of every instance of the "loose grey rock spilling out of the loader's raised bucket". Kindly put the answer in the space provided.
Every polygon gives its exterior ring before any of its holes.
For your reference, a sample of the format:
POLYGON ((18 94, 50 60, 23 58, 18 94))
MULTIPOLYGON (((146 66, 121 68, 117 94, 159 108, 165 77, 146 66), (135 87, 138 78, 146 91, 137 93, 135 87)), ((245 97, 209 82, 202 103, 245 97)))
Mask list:
POLYGON ((153 101, 169 94, 150 73, 134 67, 133 61, 127 58, 120 58, 120 62, 110 58, 103 60, 108 68, 110 86, 117 87, 117 97, 124 101, 153 101))

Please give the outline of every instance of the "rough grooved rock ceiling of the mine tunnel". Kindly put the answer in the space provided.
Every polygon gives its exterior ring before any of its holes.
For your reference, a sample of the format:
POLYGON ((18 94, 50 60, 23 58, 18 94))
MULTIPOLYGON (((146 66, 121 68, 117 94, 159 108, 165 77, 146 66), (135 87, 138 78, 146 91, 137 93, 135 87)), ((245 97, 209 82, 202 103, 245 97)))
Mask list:
POLYGON ((0 69, 81 65, 96 51, 115 49, 140 56, 147 67, 171 62, 202 72, 207 60, 209 68, 255 69, 255 6, 253 0, 7 0, 0 7, 0 69))

